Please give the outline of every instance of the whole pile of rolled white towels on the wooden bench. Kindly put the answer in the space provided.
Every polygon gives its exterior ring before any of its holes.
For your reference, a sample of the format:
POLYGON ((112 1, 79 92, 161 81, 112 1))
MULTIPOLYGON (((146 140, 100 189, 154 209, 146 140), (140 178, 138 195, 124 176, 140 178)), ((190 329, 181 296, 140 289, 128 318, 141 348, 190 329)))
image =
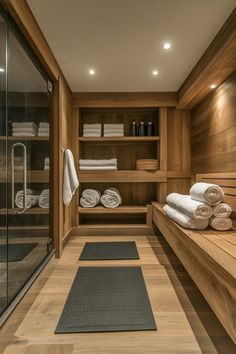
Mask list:
POLYGON ((232 228, 229 218, 232 209, 223 203, 224 192, 218 185, 198 182, 189 194, 171 193, 167 196, 163 210, 171 219, 188 229, 204 230, 209 224, 220 231, 232 228))

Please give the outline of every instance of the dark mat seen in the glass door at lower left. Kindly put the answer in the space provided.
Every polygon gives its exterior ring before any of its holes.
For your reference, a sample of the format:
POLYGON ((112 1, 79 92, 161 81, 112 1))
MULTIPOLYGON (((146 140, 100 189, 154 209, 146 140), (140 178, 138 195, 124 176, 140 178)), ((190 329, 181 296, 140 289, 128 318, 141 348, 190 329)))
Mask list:
MULTIPOLYGON (((37 243, 15 243, 8 245, 8 261, 18 262, 37 245, 37 243)), ((0 245, 0 262, 7 261, 7 245, 0 245)))

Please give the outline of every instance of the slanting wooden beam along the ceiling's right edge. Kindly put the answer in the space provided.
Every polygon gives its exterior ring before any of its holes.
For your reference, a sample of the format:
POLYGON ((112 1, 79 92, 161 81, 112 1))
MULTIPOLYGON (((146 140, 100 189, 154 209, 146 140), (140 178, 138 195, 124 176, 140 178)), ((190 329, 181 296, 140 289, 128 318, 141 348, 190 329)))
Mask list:
POLYGON ((178 108, 191 109, 236 69, 236 8, 178 91, 178 108))

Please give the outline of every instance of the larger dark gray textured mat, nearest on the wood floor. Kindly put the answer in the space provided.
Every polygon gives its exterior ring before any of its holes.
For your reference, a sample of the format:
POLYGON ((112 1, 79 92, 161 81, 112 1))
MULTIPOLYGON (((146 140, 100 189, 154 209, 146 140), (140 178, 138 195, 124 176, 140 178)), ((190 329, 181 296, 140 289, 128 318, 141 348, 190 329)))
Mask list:
POLYGON ((80 267, 55 333, 156 330, 141 267, 80 267))

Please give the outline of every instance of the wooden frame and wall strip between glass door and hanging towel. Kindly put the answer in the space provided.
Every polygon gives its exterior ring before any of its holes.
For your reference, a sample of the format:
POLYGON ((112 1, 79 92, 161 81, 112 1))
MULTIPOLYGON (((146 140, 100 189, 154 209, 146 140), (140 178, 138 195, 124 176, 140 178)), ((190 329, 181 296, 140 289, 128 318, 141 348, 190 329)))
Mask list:
POLYGON ((26 0, 5 0, 5 5, 43 63, 54 83, 53 96, 53 239, 56 255, 72 227, 71 206, 63 206, 63 151, 71 144, 72 93, 26 0))

